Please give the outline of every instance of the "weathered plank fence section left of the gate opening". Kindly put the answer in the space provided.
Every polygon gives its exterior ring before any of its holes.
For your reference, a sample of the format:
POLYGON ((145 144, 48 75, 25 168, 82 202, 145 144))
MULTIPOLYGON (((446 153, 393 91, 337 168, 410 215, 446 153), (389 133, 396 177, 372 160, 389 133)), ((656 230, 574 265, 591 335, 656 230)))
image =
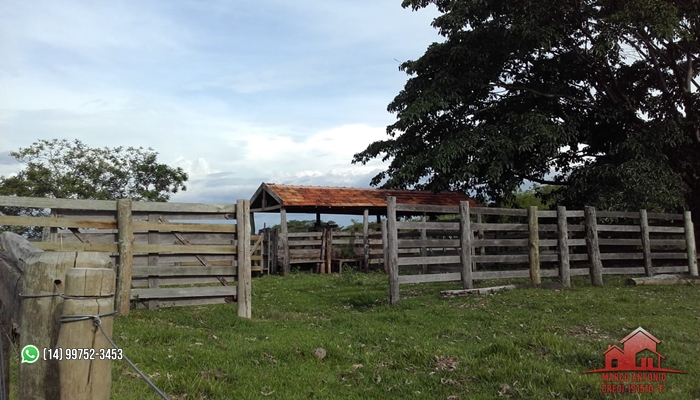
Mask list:
POLYGON ((262 257, 261 238, 250 235, 248 200, 215 205, 0 196, 0 206, 50 209, 47 217, 0 216, 0 227, 46 227, 35 243, 40 249, 108 254, 117 267, 121 314, 131 302, 153 309, 237 300, 239 315, 250 317, 251 262, 262 257), (258 254, 251 255, 256 243, 258 254))

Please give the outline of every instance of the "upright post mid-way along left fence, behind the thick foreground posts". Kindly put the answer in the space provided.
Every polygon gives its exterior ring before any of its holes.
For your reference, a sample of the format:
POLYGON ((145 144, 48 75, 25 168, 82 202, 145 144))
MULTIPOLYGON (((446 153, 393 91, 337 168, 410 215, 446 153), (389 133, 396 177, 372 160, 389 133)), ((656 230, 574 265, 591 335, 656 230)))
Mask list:
POLYGON ((117 200, 117 228, 119 229, 119 272, 115 310, 129 315, 131 306, 131 273, 134 267, 134 230, 131 227, 131 200, 117 200))

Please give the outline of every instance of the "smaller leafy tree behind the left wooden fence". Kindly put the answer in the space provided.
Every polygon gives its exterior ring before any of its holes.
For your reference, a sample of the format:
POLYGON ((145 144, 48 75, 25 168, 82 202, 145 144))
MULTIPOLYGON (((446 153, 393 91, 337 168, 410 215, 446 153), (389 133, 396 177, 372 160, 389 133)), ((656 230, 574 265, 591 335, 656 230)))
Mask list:
MULTIPOLYGON (((91 148, 79 140, 40 140, 11 152, 25 164, 17 175, 0 176, 0 195, 62 199, 131 198, 167 201, 186 190, 187 174, 158 162, 153 149, 91 148)), ((43 210, 0 207, 0 214, 40 215, 43 210)), ((25 234, 36 235, 36 230, 25 234)))

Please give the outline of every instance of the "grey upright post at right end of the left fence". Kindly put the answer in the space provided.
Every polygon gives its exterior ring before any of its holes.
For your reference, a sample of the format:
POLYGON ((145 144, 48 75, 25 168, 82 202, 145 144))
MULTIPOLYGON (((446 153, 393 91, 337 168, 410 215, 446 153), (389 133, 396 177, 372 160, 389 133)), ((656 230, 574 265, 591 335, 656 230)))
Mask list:
POLYGON ((251 273, 250 273, 250 200, 236 202, 236 260, 238 264, 236 298, 238 316, 251 317, 251 273))

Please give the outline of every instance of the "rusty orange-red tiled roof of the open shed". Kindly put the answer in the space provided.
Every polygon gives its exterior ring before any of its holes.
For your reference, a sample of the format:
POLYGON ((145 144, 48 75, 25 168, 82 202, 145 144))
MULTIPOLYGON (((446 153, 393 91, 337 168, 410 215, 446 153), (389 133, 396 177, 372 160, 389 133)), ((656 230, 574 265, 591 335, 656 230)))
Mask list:
POLYGON ((395 196, 397 203, 459 206, 469 196, 457 192, 432 193, 414 190, 366 189, 328 186, 296 186, 263 183, 250 200, 255 212, 277 212, 284 207, 290 213, 362 214, 365 209, 373 215, 386 214, 386 198, 395 196))

